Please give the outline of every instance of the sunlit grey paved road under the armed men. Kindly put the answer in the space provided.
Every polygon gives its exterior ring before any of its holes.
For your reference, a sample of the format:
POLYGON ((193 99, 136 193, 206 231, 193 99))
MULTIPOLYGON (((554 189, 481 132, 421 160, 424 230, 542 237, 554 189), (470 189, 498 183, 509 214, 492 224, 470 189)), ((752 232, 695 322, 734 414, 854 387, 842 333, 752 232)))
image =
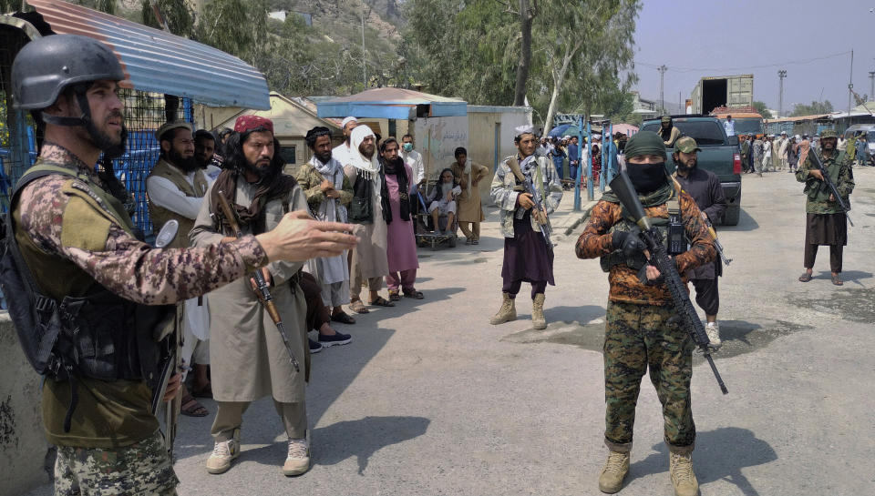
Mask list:
MULTIPOLYGON (((787 173, 744 177, 741 222, 721 230, 734 261, 721 280, 726 344, 716 363, 730 393, 701 360, 693 378, 703 494, 875 493, 875 169, 855 173, 844 288, 830 284, 823 248, 817 278, 797 281, 801 185, 787 173)), ((313 470, 282 476, 283 430, 262 400, 245 416, 242 457, 221 476, 203 468, 211 417, 182 419, 180 494, 601 494, 606 275, 574 258, 578 228, 557 247, 548 329, 530 328, 526 298, 518 321, 490 326, 495 219, 491 211, 478 247, 420 251, 426 299, 359 317, 344 328, 352 344, 314 356, 313 470)), ((646 379, 636 428, 621 494, 671 494, 646 379)))

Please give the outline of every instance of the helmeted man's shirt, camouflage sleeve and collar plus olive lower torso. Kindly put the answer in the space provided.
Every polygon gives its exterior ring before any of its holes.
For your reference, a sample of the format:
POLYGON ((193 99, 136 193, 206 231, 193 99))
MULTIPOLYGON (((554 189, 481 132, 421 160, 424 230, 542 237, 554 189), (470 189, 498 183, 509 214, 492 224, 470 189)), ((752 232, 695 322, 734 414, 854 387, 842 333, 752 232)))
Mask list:
MULTIPOLYGON (((40 160, 78 175, 30 182, 15 208, 15 237, 22 256, 40 288, 55 299, 82 296, 99 283, 137 303, 176 303, 228 284, 268 261, 252 236, 207 248, 152 249, 88 201, 88 191, 102 188, 91 167, 51 143, 43 147, 40 160), (46 273, 41 270, 46 265, 61 269, 46 273)), ((83 378, 71 430, 64 432, 69 387, 46 380, 46 435, 59 446, 117 448, 136 443, 158 427, 149 397, 145 381, 83 378)))

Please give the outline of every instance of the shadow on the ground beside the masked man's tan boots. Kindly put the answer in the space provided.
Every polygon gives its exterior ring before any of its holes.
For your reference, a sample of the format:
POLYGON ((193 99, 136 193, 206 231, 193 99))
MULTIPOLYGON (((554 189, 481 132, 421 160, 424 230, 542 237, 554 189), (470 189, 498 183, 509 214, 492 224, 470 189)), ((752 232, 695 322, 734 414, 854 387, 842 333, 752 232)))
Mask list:
MULTIPOLYGON (((654 444, 653 450, 656 452, 632 464, 629 468, 630 477, 668 471, 668 447, 664 442, 659 442, 654 444)), ((727 481, 745 496, 758 496, 759 491, 741 470, 776 460, 775 450, 750 430, 726 427, 697 432, 695 435, 693 461, 699 484, 727 481)))

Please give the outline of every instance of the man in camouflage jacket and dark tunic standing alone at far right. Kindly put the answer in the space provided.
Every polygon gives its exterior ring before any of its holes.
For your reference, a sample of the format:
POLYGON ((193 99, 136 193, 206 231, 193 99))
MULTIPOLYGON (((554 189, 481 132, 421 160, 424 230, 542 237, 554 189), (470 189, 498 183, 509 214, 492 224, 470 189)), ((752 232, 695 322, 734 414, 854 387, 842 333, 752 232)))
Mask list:
MULTIPOLYGON (((836 144, 839 137, 832 129, 820 133, 820 163, 829 172, 829 178, 839 190, 839 195, 850 208, 850 193, 854 190, 853 157, 845 152, 839 152, 836 144)), ((799 276, 799 281, 811 280, 814 260, 818 255, 820 245, 829 246, 829 268, 832 272, 832 283, 836 286, 844 284, 841 280, 842 250, 848 244, 848 219, 839 207, 837 198, 824 187, 823 176, 814 167, 808 154, 818 153, 810 149, 808 141, 800 146, 799 166, 796 180, 805 183, 802 190, 806 195, 805 212, 805 272, 799 276), (812 168, 813 167, 813 168, 812 168)))

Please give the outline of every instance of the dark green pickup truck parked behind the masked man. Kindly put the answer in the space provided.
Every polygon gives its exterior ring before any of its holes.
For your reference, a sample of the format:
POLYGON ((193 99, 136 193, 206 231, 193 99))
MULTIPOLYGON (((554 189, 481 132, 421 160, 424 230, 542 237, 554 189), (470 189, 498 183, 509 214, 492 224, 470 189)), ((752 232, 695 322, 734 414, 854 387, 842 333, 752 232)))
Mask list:
MULTIPOLYGON (((721 224, 736 226, 741 215, 741 150, 738 149, 738 137, 726 136, 723 123, 714 116, 672 116, 674 127, 681 131, 681 136, 695 139, 702 148, 696 157, 696 167, 710 170, 720 179, 720 186, 726 194, 726 212, 721 224)), ((641 126, 642 131, 659 132, 660 119, 646 120, 641 126)), ((665 167, 674 173, 673 148, 668 149, 668 160, 665 167)))

